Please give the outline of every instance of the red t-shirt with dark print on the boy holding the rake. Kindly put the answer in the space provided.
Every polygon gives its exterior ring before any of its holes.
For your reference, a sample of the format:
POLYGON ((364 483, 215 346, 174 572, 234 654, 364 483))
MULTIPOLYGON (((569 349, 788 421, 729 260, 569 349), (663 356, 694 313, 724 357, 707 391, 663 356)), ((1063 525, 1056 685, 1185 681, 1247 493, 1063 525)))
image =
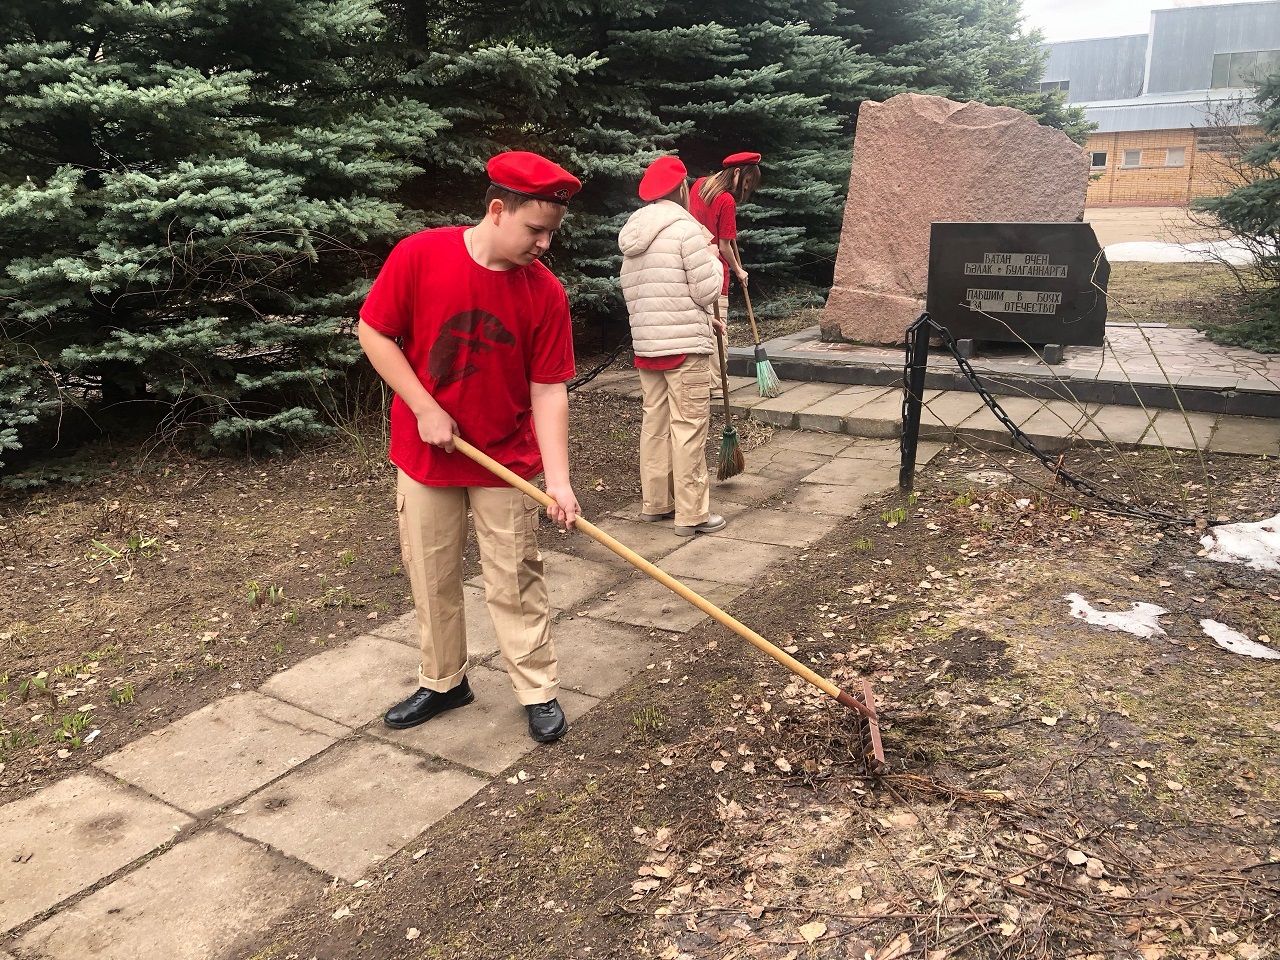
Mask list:
MULTIPOLYGON (((573 376, 564 288, 541 262, 480 266, 463 227, 407 237, 383 264, 360 319, 401 348, 462 439, 526 480, 543 468, 529 384, 573 376)), ((461 453, 424 443, 417 419, 392 401, 392 462, 428 486, 504 486, 461 453)))

